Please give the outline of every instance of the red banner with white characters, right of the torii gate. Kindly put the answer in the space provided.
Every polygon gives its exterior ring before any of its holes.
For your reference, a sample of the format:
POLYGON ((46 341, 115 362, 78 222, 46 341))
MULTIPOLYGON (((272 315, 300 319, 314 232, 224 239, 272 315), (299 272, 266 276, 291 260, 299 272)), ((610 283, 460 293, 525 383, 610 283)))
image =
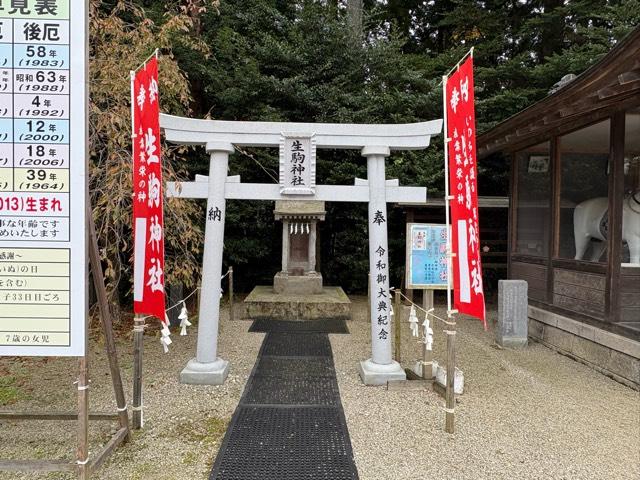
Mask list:
POLYGON ((473 57, 452 73, 445 84, 445 108, 451 197, 451 248, 454 308, 485 323, 480 227, 473 57))

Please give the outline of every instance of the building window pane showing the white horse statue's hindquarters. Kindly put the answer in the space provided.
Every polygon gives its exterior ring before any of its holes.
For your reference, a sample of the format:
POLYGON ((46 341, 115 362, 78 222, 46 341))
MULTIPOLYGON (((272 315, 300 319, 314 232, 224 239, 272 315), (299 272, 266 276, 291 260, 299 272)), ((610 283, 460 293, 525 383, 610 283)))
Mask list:
POLYGON ((605 120, 558 139, 560 258, 607 261, 609 123, 605 120))

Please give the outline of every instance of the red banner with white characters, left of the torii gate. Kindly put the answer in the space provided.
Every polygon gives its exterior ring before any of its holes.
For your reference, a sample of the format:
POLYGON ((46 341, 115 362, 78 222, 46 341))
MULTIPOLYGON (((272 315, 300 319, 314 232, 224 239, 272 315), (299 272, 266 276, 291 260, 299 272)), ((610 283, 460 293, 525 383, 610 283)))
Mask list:
POLYGON ((133 309, 165 322, 164 221, 158 60, 132 79, 133 121, 133 309))

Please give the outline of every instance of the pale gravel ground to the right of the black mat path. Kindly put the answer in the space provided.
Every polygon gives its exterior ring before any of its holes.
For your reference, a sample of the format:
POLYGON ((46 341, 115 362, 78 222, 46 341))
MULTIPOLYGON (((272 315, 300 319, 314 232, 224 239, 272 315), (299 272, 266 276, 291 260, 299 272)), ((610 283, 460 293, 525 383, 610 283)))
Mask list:
MULTIPOLYGON (((362 480, 640 479, 638 392, 540 344, 500 350, 492 331, 463 318, 456 345, 465 392, 449 435, 437 394, 360 383, 370 333, 365 307, 358 313, 351 335, 330 337, 362 480)), ((434 332, 444 364, 445 335, 434 332)), ((408 324, 402 345, 403 359, 420 357, 408 324)))

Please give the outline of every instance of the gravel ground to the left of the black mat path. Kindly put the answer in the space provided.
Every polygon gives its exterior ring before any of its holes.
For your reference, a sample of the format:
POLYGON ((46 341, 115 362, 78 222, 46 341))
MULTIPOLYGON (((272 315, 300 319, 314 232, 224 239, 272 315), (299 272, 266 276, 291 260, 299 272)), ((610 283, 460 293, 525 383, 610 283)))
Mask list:
MULTIPOLYGON (((207 479, 227 424, 240 400, 264 334, 248 333, 250 321, 228 320, 222 313, 220 355, 231 362, 223 386, 182 385, 178 373, 194 356, 196 329, 186 337, 175 332, 170 353, 164 354, 159 337, 144 339, 145 426, 134 441, 116 450, 92 479, 176 480, 207 479)), ((132 392, 132 340, 118 341, 125 395, 132 392)), ((104 347, 91 342, 90 403, 92 411, 115 412, 115 400, 104 347)), ((16 378, 20 400, 1 408, 11 411, 73 411, 76 362, 65 358, 0 358, 0 374, 16 378)), ((1 384, 0 384, 1 385, 1 384)), ((0 388, 0 392, 1 392, 0 388)), ((0 396, 0 398, 2 398, 0 396)), ((91 454, 109 440, 115 422, 91 422, 91 454)), ((0 423, 0 458, 73 458, 75 422, 0 423), (46 435, 43 434, 46 431, 46 435), (10 441, 6 441, 10 439, 10 441)), ((0 479, 72 479, 66 474, 0 473, 0 479)))

